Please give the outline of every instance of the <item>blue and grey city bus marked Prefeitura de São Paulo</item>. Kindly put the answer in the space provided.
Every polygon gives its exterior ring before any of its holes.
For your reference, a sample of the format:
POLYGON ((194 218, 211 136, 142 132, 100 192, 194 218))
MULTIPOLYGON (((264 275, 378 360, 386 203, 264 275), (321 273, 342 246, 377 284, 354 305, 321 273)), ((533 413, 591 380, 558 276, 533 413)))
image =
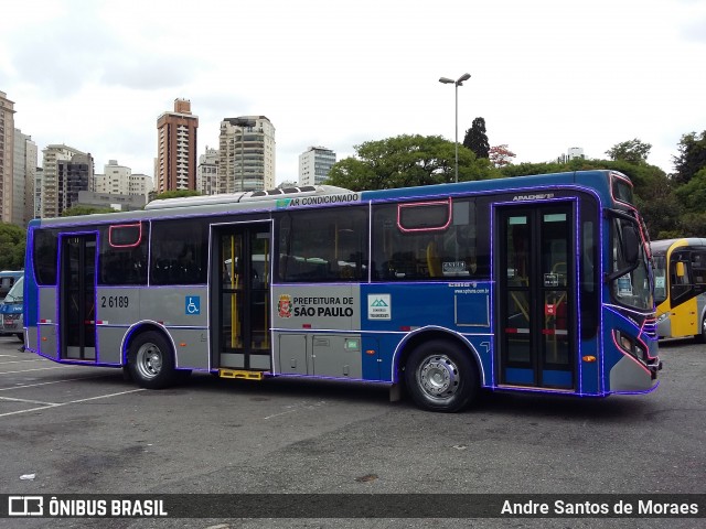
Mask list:
POLYGON ((153 201, 30 223, 26 348, 121 367, 376 382, 458 411, 481 389, 657 386, 649 238, 617 172, 153 201))

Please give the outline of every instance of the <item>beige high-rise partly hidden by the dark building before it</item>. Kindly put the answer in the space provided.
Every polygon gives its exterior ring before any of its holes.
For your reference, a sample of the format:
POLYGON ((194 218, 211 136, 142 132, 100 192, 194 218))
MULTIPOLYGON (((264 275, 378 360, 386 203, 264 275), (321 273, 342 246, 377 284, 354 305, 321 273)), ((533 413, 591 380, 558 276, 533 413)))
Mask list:
POLYGON ((93 156, 64 144, 47 145, 42 154, 35 207, 42 218, 58 217, 78 201, 78 191, 93 191, 93 156))

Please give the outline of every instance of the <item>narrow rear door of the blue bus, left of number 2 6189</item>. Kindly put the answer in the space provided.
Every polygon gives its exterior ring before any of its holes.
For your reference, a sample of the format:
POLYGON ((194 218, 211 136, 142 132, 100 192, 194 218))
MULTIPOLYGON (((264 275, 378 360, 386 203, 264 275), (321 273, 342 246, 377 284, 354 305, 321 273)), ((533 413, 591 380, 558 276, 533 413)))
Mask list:
POLYGON ((69 235, 61 245, 61 357, 96 359, 96 235, 69 235))

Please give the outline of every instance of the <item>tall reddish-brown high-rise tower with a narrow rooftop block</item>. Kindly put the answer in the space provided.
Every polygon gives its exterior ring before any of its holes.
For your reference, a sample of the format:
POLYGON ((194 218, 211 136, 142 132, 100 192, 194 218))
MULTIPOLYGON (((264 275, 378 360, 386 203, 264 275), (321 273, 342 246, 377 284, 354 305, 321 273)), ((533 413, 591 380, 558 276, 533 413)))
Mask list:
POLYGON ((191 101, 174 99, 174 111, 157 119, 156 187, 158 193, 196 188, 196 129, 191 101))

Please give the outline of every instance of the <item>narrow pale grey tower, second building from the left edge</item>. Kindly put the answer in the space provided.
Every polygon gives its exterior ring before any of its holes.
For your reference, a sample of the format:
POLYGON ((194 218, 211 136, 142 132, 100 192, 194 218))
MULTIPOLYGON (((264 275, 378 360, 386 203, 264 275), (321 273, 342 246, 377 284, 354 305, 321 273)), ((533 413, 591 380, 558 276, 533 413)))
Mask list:
POLYGON ((32 137, 14 129, 14 162, 12 169, 12 224, 26 227, 34 218, 34 179, 38 150, 32 137))

